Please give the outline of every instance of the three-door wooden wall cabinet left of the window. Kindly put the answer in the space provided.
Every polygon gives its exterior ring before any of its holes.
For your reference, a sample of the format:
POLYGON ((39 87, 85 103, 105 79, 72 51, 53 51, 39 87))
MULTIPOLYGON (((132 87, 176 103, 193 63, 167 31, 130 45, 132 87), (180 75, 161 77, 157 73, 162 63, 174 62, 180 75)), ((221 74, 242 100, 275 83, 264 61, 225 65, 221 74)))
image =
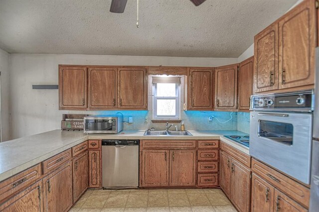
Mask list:
POLYGON ((146 67, 59 65, 59 109, 147 109, 146 67))

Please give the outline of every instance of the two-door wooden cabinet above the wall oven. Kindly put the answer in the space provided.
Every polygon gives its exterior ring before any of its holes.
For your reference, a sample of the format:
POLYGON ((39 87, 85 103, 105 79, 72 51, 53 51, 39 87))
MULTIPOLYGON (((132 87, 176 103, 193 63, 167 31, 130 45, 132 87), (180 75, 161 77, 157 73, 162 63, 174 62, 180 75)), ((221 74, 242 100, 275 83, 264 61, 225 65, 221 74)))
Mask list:
POLYGON ((313 88, 316 13, 316 0, 304 0, 255 36, 255 93, 313 88))

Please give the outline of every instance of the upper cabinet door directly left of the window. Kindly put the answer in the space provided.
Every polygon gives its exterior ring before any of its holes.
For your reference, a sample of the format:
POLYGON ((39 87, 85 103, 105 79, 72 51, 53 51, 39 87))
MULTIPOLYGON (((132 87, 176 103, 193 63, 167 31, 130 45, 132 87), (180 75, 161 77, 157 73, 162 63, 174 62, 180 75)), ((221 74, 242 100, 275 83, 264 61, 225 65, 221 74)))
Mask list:
POLYGON ((119 68, 119 108, 147 109, 145 68, 119 68))

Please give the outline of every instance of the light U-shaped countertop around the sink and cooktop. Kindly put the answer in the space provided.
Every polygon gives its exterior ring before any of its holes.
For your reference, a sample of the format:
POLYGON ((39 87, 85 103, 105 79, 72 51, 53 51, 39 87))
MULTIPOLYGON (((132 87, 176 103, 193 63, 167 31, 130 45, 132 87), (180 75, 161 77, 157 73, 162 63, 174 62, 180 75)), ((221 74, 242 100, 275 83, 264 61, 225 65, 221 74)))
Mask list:
POLYGON ((145 130, 123 130, 118 134, 84 134, 83 131, 52 130, 0 143, 0 181, 28 169, 88 139, 209 140, 221 141, 249 154, 249 148, 223 135, 247 135, 234 130, 188 130, 193 136, 144 136, 145 130))

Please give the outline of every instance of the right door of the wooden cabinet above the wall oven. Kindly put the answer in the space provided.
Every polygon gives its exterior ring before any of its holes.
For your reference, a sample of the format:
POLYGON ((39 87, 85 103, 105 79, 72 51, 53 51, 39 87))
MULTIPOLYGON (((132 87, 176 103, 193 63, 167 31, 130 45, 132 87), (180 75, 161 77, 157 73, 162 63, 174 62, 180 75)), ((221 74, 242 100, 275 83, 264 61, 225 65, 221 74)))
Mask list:
POLYGON ((279 20, 279 88, 313 85, 316 48, 315 0, 304 0, 279 20))

